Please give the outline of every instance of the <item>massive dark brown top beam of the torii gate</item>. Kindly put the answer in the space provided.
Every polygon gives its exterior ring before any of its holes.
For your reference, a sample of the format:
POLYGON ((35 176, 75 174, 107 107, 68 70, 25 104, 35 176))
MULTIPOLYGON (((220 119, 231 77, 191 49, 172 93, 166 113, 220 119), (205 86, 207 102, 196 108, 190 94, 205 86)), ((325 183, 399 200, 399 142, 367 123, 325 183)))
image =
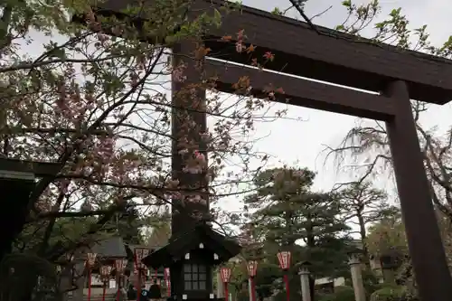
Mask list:
MULTIPOLYGON (((131 3, 132 0, 108 0, 101 6, 110 13, 120 13, 131 3)), ((191 10, 194 13, 189 14, 195 17, 225 3, 197 0, 191 10)), ((257 57, 259 53, 275 54, 275 61, 266 65, 273 71, 375 92, 392 80, 403 80, 409 86, 411 99, 436 104, 452 99, 452 61, 358 39, 321 26, 317 27, 321 33, 318 34, 306 23, 248 6, 241 6, 240 10, 224 15, 221 28, 208 31, 205 43, 212 49, 212 55, 221 53, 225 60, 249 63, 232 45, 228 50, 218 39, 244 30, 246 42, 257 46, 257 57)))

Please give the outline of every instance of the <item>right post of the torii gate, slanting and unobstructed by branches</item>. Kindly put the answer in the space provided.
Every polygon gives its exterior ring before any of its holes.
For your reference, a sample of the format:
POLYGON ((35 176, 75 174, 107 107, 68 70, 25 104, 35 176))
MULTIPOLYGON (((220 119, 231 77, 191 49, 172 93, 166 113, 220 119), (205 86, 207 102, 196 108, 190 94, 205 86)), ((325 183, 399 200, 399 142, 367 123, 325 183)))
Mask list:
POLYGON ((393 99, 395 118, 386 122, 410 257, 422 301, 452 300, 452 278, 439 234, 407 84, 383 91, 393 99))

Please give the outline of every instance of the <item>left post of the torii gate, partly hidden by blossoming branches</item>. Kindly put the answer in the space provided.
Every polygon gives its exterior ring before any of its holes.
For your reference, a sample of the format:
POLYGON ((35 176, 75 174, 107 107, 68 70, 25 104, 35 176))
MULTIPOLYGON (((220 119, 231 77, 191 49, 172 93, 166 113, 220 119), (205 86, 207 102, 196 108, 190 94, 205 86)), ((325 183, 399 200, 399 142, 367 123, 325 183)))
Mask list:
POLYGON ((179 187, 194 191, 205 203, 190 202, 185 195, 184 208, 181 208, 181 201, 173 197, 171 230, 174 236, 194 226, 194 219, 190 214, 198 212, 205 215, 209 212, 206 174, 191 174, 184 171, 188 157, 193 155, 193 149, 187 149, 185 141, 188 141, 189 146, 197 145, 194 151, 207 158, 206 144, 202 140, 202 133, 207 130, 207 114, 204 110, 205 89, 200 86, 204 60, 203 58, 198 60, 196 57, 198 47, 199 44, 195 41, 183 41, 173 48, 171 160, 173 179, 179 181, 179 187), (180 68, 181 63, 184 63, 183 69, 180 68), (177 71, 178 69, 181 69, 182 73, 177 71), (184 79, 181 79, 180 74, 184 79))

